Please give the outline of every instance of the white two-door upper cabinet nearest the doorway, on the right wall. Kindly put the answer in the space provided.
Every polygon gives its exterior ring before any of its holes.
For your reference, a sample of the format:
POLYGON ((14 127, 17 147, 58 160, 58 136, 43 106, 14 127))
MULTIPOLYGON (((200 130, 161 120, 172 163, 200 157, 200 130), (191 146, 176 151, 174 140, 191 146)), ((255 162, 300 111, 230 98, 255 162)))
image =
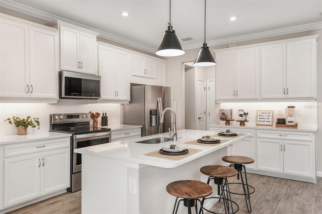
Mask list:
POLYGON ((258 47, 216 52, 216 99, 259 98, 258 47))

